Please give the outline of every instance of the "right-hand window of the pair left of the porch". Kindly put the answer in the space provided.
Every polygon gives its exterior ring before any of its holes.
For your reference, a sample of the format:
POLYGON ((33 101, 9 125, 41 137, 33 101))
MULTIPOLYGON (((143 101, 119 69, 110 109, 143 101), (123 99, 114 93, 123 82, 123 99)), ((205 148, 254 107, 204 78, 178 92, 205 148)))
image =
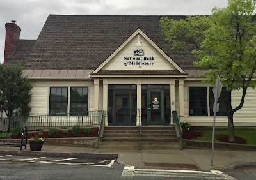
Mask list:
POLYGON ((88 111, 88 87, 70 87, 70 113, 88 111))

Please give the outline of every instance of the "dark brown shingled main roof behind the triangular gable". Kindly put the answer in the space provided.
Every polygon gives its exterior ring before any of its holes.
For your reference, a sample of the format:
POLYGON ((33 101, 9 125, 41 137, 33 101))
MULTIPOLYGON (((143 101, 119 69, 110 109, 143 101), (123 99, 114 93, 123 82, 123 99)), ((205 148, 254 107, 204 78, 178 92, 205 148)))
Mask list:
MULTIPOLYGON (((27 70, 95 70, 136 29, 140 28, 183 70, 193 66, 193 46, 179 52, 161 34, 162 16, 49 15, 37 40, 20 40, 5 63, 20 63, 27 70)), ((169 16, 184 19, 184 16, 169 16)))

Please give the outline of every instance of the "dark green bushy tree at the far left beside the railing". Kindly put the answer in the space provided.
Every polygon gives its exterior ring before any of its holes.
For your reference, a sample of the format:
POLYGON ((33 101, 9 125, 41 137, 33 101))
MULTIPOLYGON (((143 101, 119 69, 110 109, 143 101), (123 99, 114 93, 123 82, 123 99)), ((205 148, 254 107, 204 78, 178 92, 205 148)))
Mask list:
POLYGON ((7 117, 29 116, 31 89, 21 66, 0 64, 0 111, 7 117))

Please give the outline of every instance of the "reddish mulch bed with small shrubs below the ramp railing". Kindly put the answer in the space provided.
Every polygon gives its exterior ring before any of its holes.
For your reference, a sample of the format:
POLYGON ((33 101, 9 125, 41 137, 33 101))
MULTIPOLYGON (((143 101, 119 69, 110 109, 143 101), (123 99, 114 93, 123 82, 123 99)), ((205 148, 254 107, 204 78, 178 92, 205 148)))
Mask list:
MULTIPOLYGON (((56 137, 51 137, 48 134, 48 131, 41 131, 43 134, 40 136, 42 138, 68 138, 68 137, 98 137, 98 130, 99 128, 92 128, 91 133, 84 133, 84 128, 81 128, 80 135, 74 135, 72 130, 68 130, 68 133, 63 133, 63 130, 58 130, 58 134, 56 137)), ((35 137, 38 133, 29 133, 28 138, 35 137)))

